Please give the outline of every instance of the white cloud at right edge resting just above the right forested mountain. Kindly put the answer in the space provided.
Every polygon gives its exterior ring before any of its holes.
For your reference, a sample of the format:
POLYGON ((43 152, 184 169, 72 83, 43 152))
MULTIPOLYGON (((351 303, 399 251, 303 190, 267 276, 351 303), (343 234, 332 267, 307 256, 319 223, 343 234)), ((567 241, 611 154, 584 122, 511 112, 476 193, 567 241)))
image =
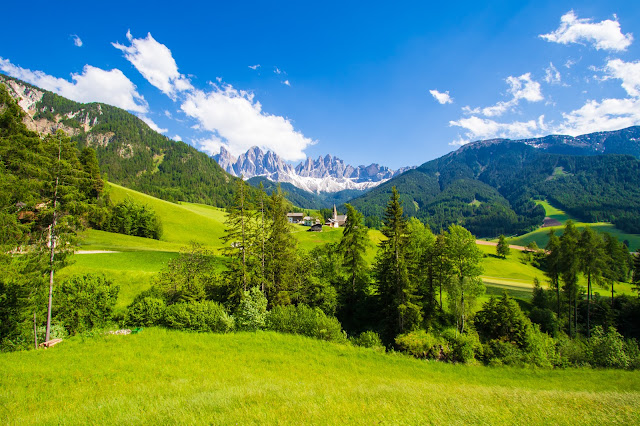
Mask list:
POLYGON ((564 123, 554 133, 572 136, 618 130, 640 124, 640 99, 587 101, 581 108, 563 113, 564 123))

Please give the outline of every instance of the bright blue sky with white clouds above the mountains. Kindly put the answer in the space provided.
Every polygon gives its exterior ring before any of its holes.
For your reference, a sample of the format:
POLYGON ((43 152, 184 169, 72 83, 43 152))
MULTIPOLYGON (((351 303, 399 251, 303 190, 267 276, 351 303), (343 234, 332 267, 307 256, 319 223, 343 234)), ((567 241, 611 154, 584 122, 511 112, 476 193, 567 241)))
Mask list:
POLYGON ((640 124, 637 2, 345 3, 11 2, 0 71, 209 153, 294 163, 397 168, 640 124))

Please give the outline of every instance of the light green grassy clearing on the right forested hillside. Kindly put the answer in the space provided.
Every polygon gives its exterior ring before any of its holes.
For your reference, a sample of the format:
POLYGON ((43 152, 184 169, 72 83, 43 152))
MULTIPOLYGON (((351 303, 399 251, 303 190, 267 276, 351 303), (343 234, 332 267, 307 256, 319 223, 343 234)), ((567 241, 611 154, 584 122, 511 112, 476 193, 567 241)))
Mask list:
MULTIPOLYGON (((568 215, 567 213, 565 213, 564 211, 553 207, 552 205, 550 205, 546 201, 537 201, 537 203, 544 207, 544 209, 546 211, 546 215, 548 217, 551 217, 553 219, 557 219, 558 221, 560 221, 560 223, 563 224, 563 226, 564 226, 564 223, 567 220, 572 219, 575 222, 576 228, 578 228, 578 230, 584 229, 585 226, 590 226, 595 231, 607 232, 607 233, 611 234, 612 236, 616 237, 620 241, 625 241, 625 240, 629 241, 629 248, 630 248, 631 251, 635 251, 638 248, 640 248, 640 235, 639 234, 627 234, 625 232, 620 231, 616 227, 614 227, 611 223, 606 223, 606 222, 599 222, 599 223, 579 222, 575 218, 573 218, 570 215, 568 215)), ((547 245, 547 242, 549 241, 549 237, 547 236, 547 234, 549 233, 549 230, 553 229, 555 231, 556 235, 560 236, 560 235, 562 235, 563 226, 551 226, 551 227, 548 227, 548 228, 539 228, 539 229, 536 229, 533 232, 529 232, 528 234, 524 234, 524 235, 521 235, 521 236, 518 236, 518 237, 515 237, 515 238, 509 238, 508 241, 509 241, 509 244, 521 245, 521 246, 526 246, 530 242, 535 241, 536 244, 538 244, 538 247, 545 247, 547 245)))

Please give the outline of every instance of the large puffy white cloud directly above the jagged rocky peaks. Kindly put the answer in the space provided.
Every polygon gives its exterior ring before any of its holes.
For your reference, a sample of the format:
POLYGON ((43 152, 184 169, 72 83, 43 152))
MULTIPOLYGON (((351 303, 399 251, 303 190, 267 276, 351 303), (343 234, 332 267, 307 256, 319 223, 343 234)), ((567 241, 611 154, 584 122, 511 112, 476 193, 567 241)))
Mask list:
POLYGON ((218 153, 220 146, 239 155, 252 146, 269 149, 286 161, 302 160, 304 150, 314 143, 293 128, 291 122, 262 111, 250 92, 230 85, 212 85, 210 92, 193 90, 181 105, 182 111, 198 120, 200 128, 213 135, 197 141, 201 149, 218 153))

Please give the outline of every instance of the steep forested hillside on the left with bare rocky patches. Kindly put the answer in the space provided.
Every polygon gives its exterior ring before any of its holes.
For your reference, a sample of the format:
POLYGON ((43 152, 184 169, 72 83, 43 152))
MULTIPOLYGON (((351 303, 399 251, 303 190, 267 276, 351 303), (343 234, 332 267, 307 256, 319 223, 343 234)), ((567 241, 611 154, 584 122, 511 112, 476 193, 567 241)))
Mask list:
POLYGON ((169 201, 218 207, 231 201, 236 178, 207 154, 155 132, 127 111, 74 102, 1 74, 0 82, 14 97, 21 91, 37 100, 25 119, 29 127, 41 133, 62 129, 79 148, 94 148, 110 181, 169 201))

